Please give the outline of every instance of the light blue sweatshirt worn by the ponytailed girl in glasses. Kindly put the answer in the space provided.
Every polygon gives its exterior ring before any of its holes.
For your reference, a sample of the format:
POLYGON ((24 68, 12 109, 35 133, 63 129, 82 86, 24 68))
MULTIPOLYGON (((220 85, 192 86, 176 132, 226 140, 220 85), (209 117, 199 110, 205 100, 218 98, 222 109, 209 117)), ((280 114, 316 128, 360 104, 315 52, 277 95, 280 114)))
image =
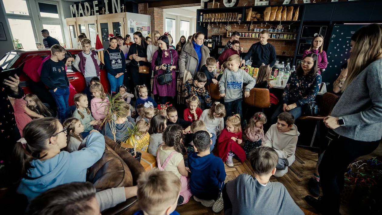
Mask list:
POLYGON ((86 170, 97 162, 104 153, 105 138, 100 133, 87 136, 86 148, 79 151, 62 151, 47 159, 34 159, 28 176, 34 179, 21 179, 17 192, 24 194, 31 202, 40 193, 61 184, 74 181, 85 182, 86 170))

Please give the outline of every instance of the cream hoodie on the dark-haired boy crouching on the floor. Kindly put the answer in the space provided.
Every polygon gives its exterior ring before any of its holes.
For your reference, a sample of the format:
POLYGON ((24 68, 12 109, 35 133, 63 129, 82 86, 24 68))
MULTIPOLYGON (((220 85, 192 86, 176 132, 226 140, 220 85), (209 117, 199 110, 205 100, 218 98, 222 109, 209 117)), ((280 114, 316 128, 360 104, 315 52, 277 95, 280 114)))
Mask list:
POLYGON ((277 125, 272 124, 265 134, 263 146, 274 148, 279 158, 286 159, 295 154, 299 135, 295 124, 286 132, 278 131, 277 125))

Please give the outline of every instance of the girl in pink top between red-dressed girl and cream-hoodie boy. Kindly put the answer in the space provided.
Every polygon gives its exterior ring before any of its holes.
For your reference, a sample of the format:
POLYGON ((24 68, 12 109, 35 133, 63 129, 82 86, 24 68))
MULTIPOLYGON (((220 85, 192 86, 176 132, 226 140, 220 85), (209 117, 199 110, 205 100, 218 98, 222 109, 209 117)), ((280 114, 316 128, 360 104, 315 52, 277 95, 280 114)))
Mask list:
POLYGON ((261 146, 264 142, 263 124, 265 123, 267 123, 267 116, 262 112, 255 113, 249 120, 248 126, 245 129, 247 140, 243 147, 246 157, 248 157, 249 152, 261 146))

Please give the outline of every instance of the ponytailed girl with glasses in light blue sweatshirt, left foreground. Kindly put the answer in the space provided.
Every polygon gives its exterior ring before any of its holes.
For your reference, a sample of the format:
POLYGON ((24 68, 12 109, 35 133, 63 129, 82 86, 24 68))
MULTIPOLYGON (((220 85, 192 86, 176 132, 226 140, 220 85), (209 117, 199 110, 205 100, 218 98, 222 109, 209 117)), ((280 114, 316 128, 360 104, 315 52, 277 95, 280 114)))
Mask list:
POLYGON ((85 148, 71 153, 61 151, 67 133, 53 117, 33 120, 23 129, 24 137, 14 146, 13 169, 20 183, 17 192, 29 202, 60 184, 85 182, 87 168, 102 157, 105 138, 98 131, 90 132, 85 148))

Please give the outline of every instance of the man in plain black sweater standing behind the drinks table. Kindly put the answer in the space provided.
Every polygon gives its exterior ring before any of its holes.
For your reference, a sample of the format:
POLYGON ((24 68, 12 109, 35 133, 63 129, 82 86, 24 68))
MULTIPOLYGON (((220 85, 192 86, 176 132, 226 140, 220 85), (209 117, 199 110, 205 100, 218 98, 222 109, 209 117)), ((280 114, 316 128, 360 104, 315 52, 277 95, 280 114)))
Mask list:
POLYGON ((240 65, 244 65, 245 61, 252 57, 252 67, 259 68, 262 63, 272 67, 276 63, 276 50, 267 42, 267 39, 269 39, 269 31, 260 32, 260 42, 251 45, 240 65))

